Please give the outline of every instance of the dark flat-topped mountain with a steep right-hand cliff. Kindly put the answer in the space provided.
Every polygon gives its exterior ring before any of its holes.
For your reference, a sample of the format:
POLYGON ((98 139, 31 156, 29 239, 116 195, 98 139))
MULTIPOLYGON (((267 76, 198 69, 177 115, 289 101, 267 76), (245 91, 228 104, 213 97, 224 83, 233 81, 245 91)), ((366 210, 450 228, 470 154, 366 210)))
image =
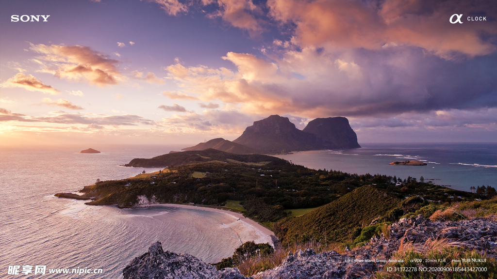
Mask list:
POLYGON ((316 118, 302 130, 316 135, 322 148, 359 148, 357 135, 345 117, 316 118))

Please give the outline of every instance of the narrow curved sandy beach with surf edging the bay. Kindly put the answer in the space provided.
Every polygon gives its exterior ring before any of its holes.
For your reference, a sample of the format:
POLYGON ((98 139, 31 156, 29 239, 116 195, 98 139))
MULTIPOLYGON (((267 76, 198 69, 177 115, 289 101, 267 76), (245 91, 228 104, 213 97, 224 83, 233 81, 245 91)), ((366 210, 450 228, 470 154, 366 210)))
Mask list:
POLYGON ((191 206, 191 205, 179 205, 179 204, 148 204, 148 205, 140 205, 136 206, 135 208, 145 208, 145 207, 153 207, 153 206, 165 206, 165 207, 176 207, 176 208, 182 208, 182 209, 197 209, 197 210, 205 210, 205 211, 213 211, 213 212, 219 212, 219 213, 225 213, 232 215, 236 218, 239 218, 240 221, 246 223, 248 226, 252 227, 254 231, 256 231, 261 238, 267 238, 270 239, 269 244, 271 246, 274 246, 275 241, 277 240, 276 236, 274 235, 274 232, 269 230, 268 228, 262 226, 261 224, 257 223, 256 221, 245 217, 242 213, 237 213, 231 210, 224 210, 224 209, 213 209, 209 207, 198 207, 198 206, 191 206))

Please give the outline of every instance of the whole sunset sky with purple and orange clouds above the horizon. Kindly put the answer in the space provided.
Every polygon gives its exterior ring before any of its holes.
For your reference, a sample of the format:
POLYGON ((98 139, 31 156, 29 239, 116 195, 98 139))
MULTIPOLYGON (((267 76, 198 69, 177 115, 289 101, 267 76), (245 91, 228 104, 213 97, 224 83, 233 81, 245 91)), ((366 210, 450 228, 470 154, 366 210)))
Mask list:
POLYGON ((274 114, 346 117, 359 143, 497 141, 493 0, 1 6, 0 145, 233 140, 274 114))

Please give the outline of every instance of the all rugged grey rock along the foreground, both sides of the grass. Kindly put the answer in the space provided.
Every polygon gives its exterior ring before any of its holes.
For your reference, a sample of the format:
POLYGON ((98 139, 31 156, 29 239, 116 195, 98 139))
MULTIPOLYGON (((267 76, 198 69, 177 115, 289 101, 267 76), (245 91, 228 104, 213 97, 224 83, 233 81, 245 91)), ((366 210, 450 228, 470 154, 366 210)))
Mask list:
MULTIPOLYGON (((364 247, 340 255, 335 251, 316 254, 312 249, 289 253, 283 263, 253 276, 255 279, 359 279, 372 278, 383 270, 401 243, 424 244, 429 239, 446 238, 459 247, 485 252, 497 258, 497 222, 489 218, 464 221, 430 221, 421 215, 403 218, 391 226, 388 239, 373 237, 364 247), (379 261, 378 261, 379 260, 379 261)), ((135 258, 124 271, 124 279, 192 278, 247 279, 238 269, 216 269, 187 255, 164 252, 160 242, 135 258)))

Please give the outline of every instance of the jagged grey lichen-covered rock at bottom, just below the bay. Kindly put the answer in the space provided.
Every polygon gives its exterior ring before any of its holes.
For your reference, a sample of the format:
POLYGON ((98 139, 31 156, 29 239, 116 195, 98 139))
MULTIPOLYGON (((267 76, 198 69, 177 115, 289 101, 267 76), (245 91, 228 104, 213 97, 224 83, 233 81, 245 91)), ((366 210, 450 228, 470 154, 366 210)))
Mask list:
POLYGON ((216 268, 184 253, 164 252, 156 242, 123 270, 124 279, 212 279, 216 268))

